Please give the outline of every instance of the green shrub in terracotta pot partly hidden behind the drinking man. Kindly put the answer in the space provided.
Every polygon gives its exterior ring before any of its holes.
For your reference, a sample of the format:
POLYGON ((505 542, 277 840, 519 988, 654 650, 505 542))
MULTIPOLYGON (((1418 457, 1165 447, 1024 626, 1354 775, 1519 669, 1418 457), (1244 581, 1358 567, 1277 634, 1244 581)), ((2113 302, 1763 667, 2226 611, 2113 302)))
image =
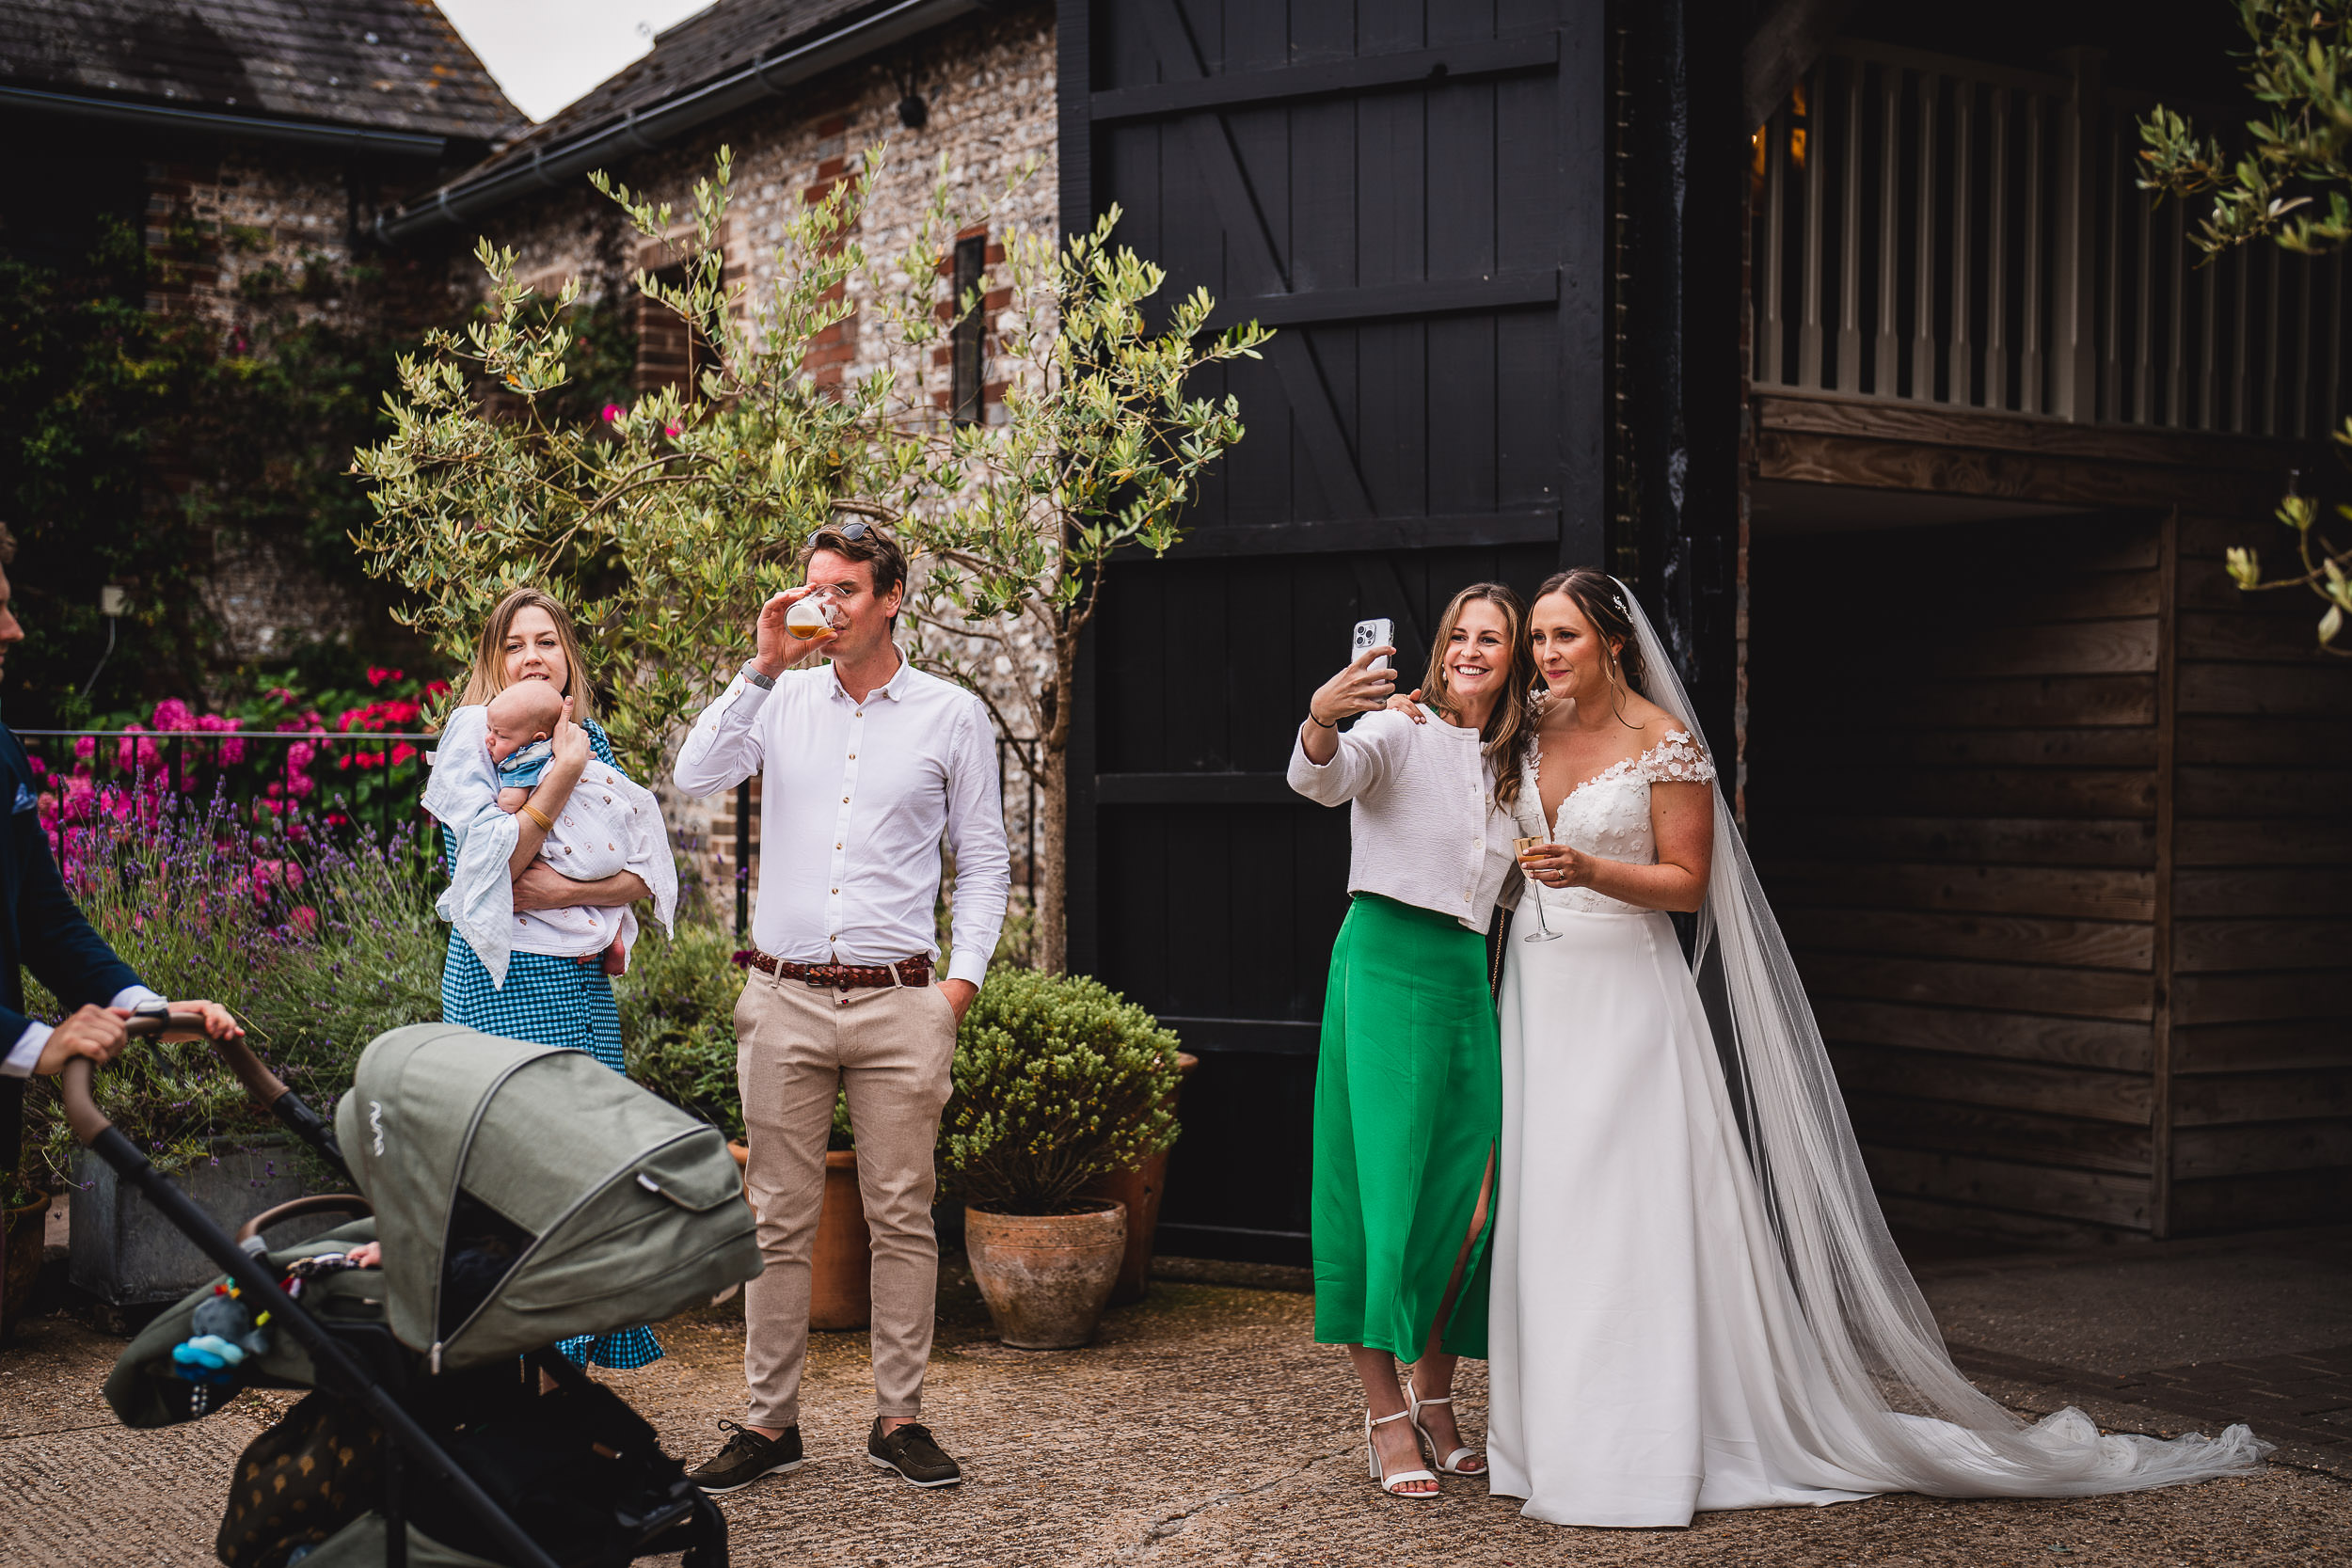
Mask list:
MULTIPOLYGON (((680 922, 668 940, 647 931, 630 971, 614 983, 628 1077, 727 1133, 736 1166, 750 1161, 736 1079, 734 1004, 743 966, 729 961, 722 926, 680 922)), ((748 1194, 746 1194, 748 1201, 748 1194)), ((873 1321, 873 1232, 858 1197, 849 1105, 835 1095, 826 1140, 826 1199, 809 1251, 809 1328, 873 1321)))

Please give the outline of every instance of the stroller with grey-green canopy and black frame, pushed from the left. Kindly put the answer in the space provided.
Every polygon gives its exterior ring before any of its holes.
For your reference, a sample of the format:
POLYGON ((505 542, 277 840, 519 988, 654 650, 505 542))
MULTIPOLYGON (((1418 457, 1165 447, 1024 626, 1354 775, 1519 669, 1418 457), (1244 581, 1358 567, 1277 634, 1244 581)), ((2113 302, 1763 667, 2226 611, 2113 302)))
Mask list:
MULTIPOLYGON (((132 1034, 191 1023, 143 1013, 132 1034)), ((75 1138, 226 1272, 122 1352, 115 1415, 162 1427, 240 1387, 315 1389, 238 1460, 221 1561, 621 1568, 684 1552, 724 1568, 717 1507, 553 1349, 760 1272, 724 1138, 590 1056, 456 1025, 369 1044, 334 1128, 242 1041, 214 1048, 362 1197, 294 1199, 230 1237, 106 1124, 89 1060, 68 1063, 64 1103, 75 1138), (278 1251, 261 1239, 334 1211, 360 1218, 278 1251), (381 1269, 343 1262, 360 1241, 383 1244, 381 1269), (226 1387, 191 1382, 174 1347, 212 1333, 230 1291, 261 1333, 226 1387)))

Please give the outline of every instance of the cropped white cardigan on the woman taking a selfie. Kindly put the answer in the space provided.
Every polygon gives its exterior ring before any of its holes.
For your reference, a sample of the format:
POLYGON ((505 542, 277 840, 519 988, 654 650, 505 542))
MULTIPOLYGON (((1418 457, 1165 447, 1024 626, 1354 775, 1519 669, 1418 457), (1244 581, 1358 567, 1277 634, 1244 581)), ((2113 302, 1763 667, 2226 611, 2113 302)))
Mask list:
POLYGON ((1517 825, 1494 799, 1479 733, 1444 719, 1367 712, 1317 766, 1291 743, 1291 788, 1348 818, 1348 891, 1435 910, 1484 933, 1494 907, 1517 903, 1517 825), (1510 884, 1505 889, 1505 882, 1510 884))

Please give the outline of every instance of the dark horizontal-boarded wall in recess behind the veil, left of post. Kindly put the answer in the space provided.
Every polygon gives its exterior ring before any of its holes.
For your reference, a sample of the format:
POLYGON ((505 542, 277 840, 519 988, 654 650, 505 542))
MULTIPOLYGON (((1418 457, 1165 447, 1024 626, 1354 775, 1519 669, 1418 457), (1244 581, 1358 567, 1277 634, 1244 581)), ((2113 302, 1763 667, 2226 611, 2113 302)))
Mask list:
MULTIPOLYGON (((1891 1213, 2150 1225, 2157 527, 2147 517, 1766 538, 1750 621, 1750 842, 1891 1213), (1973 562, 2016 550, 2030 583, 1973 562), (1778 729, 1773 562, 1870 602, 1835 755, 1778 729), (1962 562, 1959 569, 1952 564, 1962 562)), ((1795 663, 1795 658, 1792 658, 1795 663)))

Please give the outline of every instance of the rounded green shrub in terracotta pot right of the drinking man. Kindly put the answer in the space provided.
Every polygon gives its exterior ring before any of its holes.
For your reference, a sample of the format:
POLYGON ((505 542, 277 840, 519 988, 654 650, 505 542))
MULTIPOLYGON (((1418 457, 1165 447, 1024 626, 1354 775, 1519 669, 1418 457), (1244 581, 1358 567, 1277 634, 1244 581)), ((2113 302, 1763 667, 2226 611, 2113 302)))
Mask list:
POLYGON ((1094 1338, 1127 1255, 1127 1206, 1087 1182, 1176 1140, 1176 1037, 1101 980, 997 966, 955 1041, 938 1164, 964 1253, 1018 1349, 1094 1338))

